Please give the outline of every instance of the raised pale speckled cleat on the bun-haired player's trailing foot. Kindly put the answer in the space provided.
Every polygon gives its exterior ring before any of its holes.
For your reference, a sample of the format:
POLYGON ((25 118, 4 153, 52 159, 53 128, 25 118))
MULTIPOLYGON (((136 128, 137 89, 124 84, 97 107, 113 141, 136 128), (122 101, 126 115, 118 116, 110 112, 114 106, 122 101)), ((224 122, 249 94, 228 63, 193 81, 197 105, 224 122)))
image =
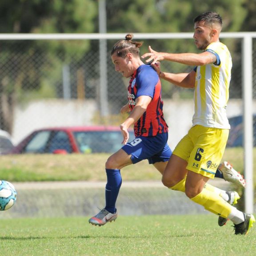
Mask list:
POLYGON ((218 167, 219 171, 222 172, 224 180, 230 183, 243 186, 245 188, 244 177, 232 167, 227 161, 221 163, 218 167))

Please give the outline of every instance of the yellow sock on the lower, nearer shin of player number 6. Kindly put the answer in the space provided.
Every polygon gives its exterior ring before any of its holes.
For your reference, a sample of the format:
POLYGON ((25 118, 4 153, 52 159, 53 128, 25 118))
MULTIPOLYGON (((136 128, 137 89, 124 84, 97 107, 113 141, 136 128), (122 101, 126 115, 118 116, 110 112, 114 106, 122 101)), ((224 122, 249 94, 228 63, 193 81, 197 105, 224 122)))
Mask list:
POLYGON ((224 218, 228 218, 232 206, 215 192, 203 189, 197 196, 191 198, 197 204, 204 206, 209 212, 213 212, 224 218))

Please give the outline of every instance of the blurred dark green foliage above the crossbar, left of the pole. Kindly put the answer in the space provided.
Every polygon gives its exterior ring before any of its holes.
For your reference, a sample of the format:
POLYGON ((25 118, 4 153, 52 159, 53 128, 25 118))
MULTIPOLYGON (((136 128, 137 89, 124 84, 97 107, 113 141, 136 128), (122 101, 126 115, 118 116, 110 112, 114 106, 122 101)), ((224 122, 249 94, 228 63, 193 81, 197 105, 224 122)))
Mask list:
POLYGON ((3 0, 0 2, 0 32, 89 33, 97 3, 93 0, 3 0))

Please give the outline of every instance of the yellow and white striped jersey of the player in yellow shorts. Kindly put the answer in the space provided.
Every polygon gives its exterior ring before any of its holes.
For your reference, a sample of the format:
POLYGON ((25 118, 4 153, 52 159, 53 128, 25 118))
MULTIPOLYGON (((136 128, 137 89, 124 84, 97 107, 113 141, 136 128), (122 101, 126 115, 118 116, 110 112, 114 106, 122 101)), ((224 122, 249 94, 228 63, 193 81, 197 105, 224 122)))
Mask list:
POLYGON ((195 114, 192 123, 193 126, 200 124, 230 129, 226 114, 232 68, 230 52, 220 42, 209 44, 205 51, 215 54, 217 61, 196 67, 195 114))

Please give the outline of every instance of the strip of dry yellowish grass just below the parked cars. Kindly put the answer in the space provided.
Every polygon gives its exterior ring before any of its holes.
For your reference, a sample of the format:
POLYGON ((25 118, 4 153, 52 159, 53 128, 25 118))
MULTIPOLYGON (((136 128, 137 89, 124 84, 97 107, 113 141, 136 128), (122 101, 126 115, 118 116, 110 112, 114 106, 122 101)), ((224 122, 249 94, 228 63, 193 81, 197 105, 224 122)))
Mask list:
MULTIPOLYGON (((256 163, 256 148, 254 148, 256 163)), ((108 154, 71 155, 10 155, 1 156, 0 177, 9 181, 89 180, 105 181, 105 162, 108 154)), ((227 148, 224 160, 230 161, 243 173, 242 148, 227 148)), ((256 173, 256 164, 254 164, 256 173)), ((124 180, 160 180, 156 169, 142 161, 122 169, 124 180)))

